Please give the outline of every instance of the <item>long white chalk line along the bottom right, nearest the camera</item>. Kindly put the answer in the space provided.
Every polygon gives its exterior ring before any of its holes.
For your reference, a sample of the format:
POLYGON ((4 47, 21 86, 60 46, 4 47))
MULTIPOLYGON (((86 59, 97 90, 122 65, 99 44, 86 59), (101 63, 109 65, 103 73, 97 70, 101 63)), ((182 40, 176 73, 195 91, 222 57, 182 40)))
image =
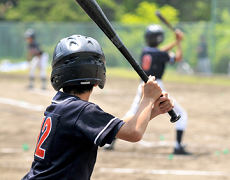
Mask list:
POLYGON ((222 171, 192 171, 192 170, 158 170, 158 169, 136 169, 136 168, 105 168, 99 169, 101 172, 108 173, 142 173, 142 174, 159 174, 159 175, 189 175, 189 176, 229 176, 228 172, 222 171))

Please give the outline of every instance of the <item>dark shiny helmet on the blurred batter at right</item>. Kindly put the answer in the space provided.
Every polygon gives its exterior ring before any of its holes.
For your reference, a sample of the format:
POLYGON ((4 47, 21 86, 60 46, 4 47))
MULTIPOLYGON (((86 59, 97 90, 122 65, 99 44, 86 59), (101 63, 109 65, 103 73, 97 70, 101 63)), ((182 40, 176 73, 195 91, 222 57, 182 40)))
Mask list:
POLYGON ((156 47, 164 40, 164 30, 160 25, 151 24, 146 28, 145 41, 150 47, 156 47))

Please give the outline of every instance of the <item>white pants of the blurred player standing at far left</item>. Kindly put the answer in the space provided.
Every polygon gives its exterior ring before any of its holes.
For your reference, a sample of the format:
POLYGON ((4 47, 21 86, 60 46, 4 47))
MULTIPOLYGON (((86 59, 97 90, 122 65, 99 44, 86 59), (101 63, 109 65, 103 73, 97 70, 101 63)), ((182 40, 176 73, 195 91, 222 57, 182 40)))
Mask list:
POLYGON ((30 78, 30 87, 33 87, 35 72, 36 69, 40 69, 40 79, 42 80, 42 88, 46 88, 46 67, 49 61, 49 54, 44 52, 42 53, 41 57, 34 56, 30 62, 30 71, 29 71, 29 78, 30 78))

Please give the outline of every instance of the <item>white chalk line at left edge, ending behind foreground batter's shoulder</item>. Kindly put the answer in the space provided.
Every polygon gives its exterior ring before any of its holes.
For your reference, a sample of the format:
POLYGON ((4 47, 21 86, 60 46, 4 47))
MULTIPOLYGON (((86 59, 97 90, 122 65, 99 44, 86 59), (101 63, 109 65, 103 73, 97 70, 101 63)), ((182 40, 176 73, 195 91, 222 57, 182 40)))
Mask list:
POLYGON ((24 109, 34 110, 34 111, 44 111, 45 107, 42 105, 31 104, 24 101, 14 100, 10 98, 0 97, 0 103, 7 104, 11 106, 21 107, 24 109))

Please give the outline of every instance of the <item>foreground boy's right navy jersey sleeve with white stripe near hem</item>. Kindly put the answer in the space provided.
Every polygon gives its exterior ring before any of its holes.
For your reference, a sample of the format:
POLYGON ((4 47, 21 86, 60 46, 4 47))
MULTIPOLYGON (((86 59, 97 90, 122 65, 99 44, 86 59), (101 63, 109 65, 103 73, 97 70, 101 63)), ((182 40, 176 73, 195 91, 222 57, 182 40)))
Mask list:
POLYGON ((76 135, 81 132, 98 146, 111 144, 117 132, 124 124, 122 120, 104 112, 95 104, 87 105, 76 121, 76 135))

